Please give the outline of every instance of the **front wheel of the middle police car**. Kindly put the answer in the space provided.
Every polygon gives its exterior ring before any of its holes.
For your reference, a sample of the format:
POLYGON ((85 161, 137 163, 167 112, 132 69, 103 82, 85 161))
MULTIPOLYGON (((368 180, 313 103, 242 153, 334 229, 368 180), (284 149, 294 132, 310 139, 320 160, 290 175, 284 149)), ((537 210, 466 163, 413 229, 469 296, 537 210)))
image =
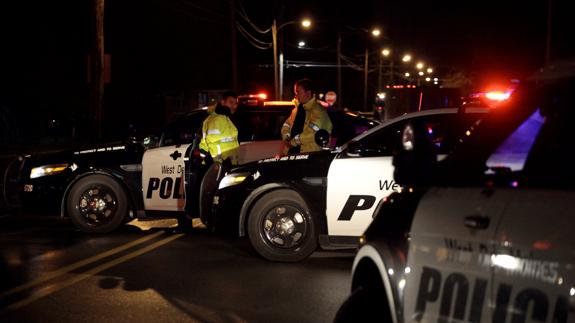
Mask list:
POLYGON ((254 249, 272 261, 295 262, 317 247, 317 225, 305 201, 292 190, 264 195, 251 209, 248 236, 254 249))

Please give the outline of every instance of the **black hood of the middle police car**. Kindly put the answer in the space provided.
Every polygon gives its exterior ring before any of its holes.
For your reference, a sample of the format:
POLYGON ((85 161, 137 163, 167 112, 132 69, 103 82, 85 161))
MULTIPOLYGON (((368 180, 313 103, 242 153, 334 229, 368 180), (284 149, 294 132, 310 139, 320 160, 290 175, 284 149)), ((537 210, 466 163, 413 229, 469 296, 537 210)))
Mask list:
POLYGON ((233 169, 269 181, 294 181, 303 177, 326 177, 335 151, 318 151, 260 159, 233 169))

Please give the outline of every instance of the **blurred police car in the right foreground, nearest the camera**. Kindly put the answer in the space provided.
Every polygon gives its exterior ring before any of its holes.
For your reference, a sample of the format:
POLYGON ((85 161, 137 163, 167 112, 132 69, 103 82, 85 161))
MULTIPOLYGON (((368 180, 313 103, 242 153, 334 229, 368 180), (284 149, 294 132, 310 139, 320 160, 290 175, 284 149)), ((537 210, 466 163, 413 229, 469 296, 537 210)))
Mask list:
POLYGON ((469 128, 431 188, 384 199, 336 321, 575 322, 574 94, 575 61, 543 69, 469 128))

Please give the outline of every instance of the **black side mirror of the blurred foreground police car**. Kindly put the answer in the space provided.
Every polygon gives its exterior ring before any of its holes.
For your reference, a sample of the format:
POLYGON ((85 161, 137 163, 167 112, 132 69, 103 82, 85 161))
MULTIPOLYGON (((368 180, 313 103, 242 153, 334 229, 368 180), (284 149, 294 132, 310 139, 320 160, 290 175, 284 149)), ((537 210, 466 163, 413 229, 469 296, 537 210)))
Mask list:
POLYGON ((399 148, 393 155, 394 180, 408 187, 427 186, 432 182, 437 152, 422 124, 407 123, 399 148))

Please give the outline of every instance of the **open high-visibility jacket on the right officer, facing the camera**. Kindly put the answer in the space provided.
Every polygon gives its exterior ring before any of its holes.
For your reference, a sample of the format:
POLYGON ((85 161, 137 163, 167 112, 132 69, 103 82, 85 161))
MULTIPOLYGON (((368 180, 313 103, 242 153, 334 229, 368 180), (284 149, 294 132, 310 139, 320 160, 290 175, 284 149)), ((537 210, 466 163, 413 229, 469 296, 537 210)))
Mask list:
POLYGON ((303 131, 291 138, 291 128, 297 114, 297 100, 294 100, 296 107, 292 110, 290 116, 284 122, 281 133, 286 145, 284 154, 288 153, 290 147, 300 146, 300 152, 311 152, 321 150, 321 147, 315 142, 315 133, 324 129, 331 134, 332 124, 325 108, 313 97, 303 105, 305 110, 305 121, 303 131))

